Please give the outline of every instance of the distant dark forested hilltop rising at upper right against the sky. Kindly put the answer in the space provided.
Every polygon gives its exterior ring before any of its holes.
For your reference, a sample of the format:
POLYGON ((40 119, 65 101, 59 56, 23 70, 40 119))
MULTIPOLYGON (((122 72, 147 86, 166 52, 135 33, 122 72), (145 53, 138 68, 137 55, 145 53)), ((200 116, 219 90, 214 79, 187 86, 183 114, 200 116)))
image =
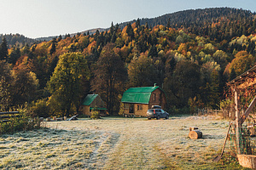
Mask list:
MULTIPOLYGON (((255 13, 239 8, 189 9, 173 14, 165 14, 154 19, 142 19, 142 25, 157 25, 183 28, 190 33, 208 36, 211 40, 230 40, 232 37, 252 34, 256 28, 255 13)), ((120 25, 123 28, 128 23, 120 25)))

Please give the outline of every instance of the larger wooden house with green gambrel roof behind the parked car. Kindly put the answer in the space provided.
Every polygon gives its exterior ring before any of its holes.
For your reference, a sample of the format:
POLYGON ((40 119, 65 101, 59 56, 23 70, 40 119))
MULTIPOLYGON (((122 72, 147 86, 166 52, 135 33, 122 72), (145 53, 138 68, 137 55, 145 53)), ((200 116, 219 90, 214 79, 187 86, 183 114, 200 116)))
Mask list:
POLYGON ((147 116, 152 105, 166 108, 166 93, 158 86, 129 88, 123 94, 124 115, 147 116))

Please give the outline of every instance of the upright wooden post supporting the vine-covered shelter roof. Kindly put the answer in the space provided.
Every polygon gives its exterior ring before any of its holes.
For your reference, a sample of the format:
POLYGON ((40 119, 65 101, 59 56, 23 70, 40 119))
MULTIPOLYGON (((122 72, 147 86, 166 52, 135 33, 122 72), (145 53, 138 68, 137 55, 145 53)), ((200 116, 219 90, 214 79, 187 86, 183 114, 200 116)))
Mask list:
POLYGON ((235 90, 235 110, 236 110, 236 152, 237 154, 241 154, 241 149, 240 149, 240 139, 239 139, 239 134, 240 134, 240 115, 239 115, 239 111, 238 111, 238 93, 235 90))

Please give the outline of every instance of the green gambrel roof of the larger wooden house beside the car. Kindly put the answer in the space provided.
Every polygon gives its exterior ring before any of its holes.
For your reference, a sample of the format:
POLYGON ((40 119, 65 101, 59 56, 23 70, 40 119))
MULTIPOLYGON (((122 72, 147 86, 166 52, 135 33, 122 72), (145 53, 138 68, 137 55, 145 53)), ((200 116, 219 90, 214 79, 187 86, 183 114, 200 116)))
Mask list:
POLYGON ((155 86, 155 87, 129 88, 123 94, 121 102, 148 104, 151 93, 154 92, 154 90, 157 88, 160 88, 160 87, 155 86))

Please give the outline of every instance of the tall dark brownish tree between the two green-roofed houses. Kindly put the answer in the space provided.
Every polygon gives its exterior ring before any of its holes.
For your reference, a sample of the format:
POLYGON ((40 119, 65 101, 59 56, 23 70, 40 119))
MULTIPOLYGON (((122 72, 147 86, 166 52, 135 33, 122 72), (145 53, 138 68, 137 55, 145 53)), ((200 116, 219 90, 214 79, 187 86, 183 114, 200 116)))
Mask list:
POLYGON ((125 63, 113 51, 113 43, 108 43, 97 60, 92 89, 100 94, 107 103, 109 114, 113 115, 116 105, 119 106, 118 95, 121 94, 120 87, 126 80, 125 63))

